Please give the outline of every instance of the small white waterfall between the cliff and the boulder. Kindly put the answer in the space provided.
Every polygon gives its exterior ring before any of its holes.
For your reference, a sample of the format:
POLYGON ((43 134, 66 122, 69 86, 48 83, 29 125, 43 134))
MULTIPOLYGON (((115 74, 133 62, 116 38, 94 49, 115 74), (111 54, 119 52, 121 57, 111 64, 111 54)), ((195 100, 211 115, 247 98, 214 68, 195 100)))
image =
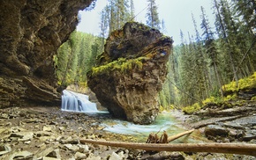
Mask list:
POLYGON ((97 112, 95 103, 89 101, 89 97, 73 91, 63 91, 61 109, 79 113, 97 112))

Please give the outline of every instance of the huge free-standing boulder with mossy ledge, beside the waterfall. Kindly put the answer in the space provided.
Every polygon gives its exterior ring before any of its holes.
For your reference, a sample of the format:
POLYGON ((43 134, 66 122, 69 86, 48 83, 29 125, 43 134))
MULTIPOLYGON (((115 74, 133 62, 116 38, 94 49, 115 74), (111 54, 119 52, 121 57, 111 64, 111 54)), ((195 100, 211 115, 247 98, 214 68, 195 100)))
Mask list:
POLYGON ((118 118, 139 124, 154 121, 157 93, 167 75, 172 40, 158 30, 131 22, 109 35, 88 86, 118 118))

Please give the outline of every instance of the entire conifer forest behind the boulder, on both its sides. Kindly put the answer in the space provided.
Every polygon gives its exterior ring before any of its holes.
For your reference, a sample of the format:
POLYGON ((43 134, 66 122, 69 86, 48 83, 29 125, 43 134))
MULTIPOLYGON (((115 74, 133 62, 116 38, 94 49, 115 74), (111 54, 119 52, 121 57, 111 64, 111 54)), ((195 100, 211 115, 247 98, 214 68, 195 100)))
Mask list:
MULTIPOLYGON (((228 90, 225 84, 242 85, 239 80, 255 72, 255 0, 209 3, 215 24, 209 24, 201 6, 200 22, 196 22, 193 14, 191 18, 195 32, 180 31, 182 42, 173 47, 169 56, 169 74, 158 96, 162 109, 181 108, 211 97, 222 98, 228 90), (188 35, 188 40, 184 35, 188 35)), ((154 0, 147 0, 147 4, 146 25, 164 33, 164 19, 159 18, 157 4, 154 0)), ((133 1, 109 0, 100 16, 101 33, 96 36, 74 31, 58 48, 54 60, 59 84, 87 86, 87 71, 102 54, 109 33, 134 20, 133 1)))

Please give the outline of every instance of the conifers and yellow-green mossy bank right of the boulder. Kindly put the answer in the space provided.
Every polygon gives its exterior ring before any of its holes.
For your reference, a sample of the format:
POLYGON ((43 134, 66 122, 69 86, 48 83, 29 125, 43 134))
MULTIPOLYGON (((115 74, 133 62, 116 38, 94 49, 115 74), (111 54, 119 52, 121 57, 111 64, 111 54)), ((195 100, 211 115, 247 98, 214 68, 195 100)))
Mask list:
POLYGON ((215 28, 210 27, 206 11, 201 8, 202 35, 192 16, 195 35, 188 33, 189 40, 184 40, 181 31, 182 44, 174 47, 175 61, 170 61, 174 74, 169 75, 169 79, 175 77, 172 82, 179 91, 169 96, 174 96, 176 104, 187 106, 209 98, 209 103, 222 105, 236 99, 236 94, 222 96, 255 87, 255 79, 245 78, 256 69, 253 3, 251 0, 213 0, 215 28))

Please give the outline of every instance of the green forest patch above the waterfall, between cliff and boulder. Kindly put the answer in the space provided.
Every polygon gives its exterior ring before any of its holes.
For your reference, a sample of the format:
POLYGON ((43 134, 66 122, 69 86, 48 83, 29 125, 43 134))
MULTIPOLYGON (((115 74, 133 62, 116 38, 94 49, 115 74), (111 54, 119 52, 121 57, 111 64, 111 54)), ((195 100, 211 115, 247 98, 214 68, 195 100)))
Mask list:
POLYGON ((87 71, 102 54, 102 39, 92 34, 73 32, 54 57, 58 84, 85 84, 87 71))

